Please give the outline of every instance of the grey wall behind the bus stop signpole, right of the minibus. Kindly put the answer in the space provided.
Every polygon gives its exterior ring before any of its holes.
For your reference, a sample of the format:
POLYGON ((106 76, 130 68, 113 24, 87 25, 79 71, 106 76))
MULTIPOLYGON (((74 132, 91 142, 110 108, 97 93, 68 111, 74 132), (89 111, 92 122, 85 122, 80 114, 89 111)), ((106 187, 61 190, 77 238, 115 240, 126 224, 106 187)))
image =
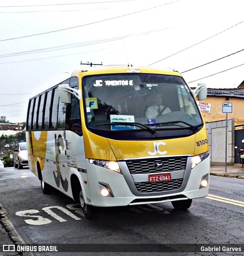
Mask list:
MULTIPOLYGON (((225 164, 226 121, 206 123, 211 164, 225 164)), ((234 119, 228 119, 227 164, 234 164, 234 119)))

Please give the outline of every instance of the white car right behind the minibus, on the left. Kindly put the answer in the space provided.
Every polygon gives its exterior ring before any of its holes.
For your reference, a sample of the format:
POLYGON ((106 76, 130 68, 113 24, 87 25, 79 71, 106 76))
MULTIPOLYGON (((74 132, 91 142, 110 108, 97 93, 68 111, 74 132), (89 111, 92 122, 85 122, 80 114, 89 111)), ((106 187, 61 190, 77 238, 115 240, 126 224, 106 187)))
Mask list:
POLYGON ((22 169, 24 166, 28 166, 28 154, 26 142, 20 142, 14 150, 14 167, 22 169))

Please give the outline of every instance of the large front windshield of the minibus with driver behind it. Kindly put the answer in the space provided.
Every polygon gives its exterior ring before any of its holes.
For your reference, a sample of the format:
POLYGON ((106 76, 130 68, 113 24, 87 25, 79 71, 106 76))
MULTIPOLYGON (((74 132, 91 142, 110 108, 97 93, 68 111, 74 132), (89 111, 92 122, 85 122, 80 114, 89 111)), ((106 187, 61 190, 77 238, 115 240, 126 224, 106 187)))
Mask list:
POLYGON ((82 86, 88 128, 152 132, 202 125, 196 102, 180 76, 102 74, 83 77, 82 86))

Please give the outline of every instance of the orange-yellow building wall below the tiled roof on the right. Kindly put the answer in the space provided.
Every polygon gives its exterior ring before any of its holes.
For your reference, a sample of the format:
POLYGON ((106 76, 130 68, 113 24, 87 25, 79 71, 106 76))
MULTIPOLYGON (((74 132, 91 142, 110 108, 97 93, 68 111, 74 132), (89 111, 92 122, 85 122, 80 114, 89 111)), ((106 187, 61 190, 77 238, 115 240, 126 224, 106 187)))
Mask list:
POLYGON ((244 98, 230 97, 230 100, 226 100, 221 96, 207 96, 207 99, 202 101, 211 103, 210 114, 202 113, 205 122, 225 120, 225 114, 222 113, 222 102, 232 102, 233 113, 228 114, 228 119, 233 118, 235 125, 244 124, 244 98))

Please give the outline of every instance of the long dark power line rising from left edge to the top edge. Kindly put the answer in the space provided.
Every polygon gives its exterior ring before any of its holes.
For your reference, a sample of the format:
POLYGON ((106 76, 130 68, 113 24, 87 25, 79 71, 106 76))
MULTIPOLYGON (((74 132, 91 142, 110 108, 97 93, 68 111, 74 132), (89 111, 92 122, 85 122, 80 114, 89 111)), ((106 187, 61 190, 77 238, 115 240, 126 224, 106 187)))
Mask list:
POLYGON ((143 11, 153 10, 153 9, 162 7, 164 5, 169 5, 171 3, 175 3, 175 2, 178 2, 178 1, 180 1, 180 0, 176 0, 176 1, 170 2, 170 3, 165 3, 163 5, 157 5, 157 6, 154 6, 154 7, 151 7, 151 8, 147 8, 147 9, 144 9, 144 10, 140 10, 140 11, 135 11, 133 13, 127 13, 127 14, 124 14, 124 15, 120 15, 120 16, 116 16, 116 17, 112 17, 112 18, 108 18, 108 19, 102 19, 100 21, 93 21, 93 22, 90 22, 90 23, 87 23, 87 24, 82 24, 82 25, 78 25, 78 26, 74 26, 74 27, 66 27, 64 29, 57 29, 57 30, 53 30, 53 31, 39 33, 39 34, 23 35, 22 37, 13 37, 13 38, 8 38, 8 39, 3 39, 3 40, 0 40, 0 42, 8 41, 8 40, 14 40, 14 39, 21 39, 21 38, 26 38, 26 37, 33 37, 33 36, 37 36, 37 35, 50 34, 50 33, 54 33, 54 32, 64 31, 64 30, 67 30, 67 29, 74 29, 74 28, 77 28, 77 27, 84 27, 84 26, 88 26, 88 25, 92 25, 92 24, 96 24, 96 23, 101 23, 103 21, 110 21, 112 19, 122 18, 122 17, 133 15, 133 14, 136 14, 136 13, 141 13, 143 11))

